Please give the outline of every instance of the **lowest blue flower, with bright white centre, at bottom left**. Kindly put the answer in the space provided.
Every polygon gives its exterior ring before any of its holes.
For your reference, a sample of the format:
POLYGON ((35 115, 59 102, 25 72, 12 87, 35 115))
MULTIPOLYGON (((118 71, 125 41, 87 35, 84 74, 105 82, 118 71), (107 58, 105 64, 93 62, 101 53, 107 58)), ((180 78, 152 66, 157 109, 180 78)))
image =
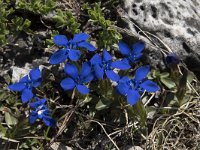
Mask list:
POLYGON ((42 121, 50 127, 55 127, 55 120, 49 116, 49 110, 46 106, 46 99, 39 99, 36 97, 36 101, 30 103, 29 106, 32 108, 32 111, 29 115, 29 122, 32 124, 36 119, 42 119, 42 121))

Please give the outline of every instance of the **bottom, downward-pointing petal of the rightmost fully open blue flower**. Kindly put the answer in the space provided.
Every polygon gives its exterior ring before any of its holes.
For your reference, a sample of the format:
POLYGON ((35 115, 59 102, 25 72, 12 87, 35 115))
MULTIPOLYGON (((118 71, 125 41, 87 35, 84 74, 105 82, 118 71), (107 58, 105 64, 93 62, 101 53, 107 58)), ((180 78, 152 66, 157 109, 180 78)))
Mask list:
POLYGON ((136 90, 129 90, 127 93, 127 101, 130 105, 135 105, 140 99, 140 94, 136 90))

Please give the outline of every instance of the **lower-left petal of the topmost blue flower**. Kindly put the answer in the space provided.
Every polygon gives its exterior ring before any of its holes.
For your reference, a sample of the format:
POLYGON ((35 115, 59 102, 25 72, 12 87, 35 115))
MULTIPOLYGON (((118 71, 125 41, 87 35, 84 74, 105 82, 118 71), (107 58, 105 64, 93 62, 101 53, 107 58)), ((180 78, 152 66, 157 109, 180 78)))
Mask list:
POLYGON ((60 49, 56 51, 51 57, 50 57, 50 64, 55 65, 63 62, 65 59, 67 59, 68 55, 66 54, 66 50, 60 49))

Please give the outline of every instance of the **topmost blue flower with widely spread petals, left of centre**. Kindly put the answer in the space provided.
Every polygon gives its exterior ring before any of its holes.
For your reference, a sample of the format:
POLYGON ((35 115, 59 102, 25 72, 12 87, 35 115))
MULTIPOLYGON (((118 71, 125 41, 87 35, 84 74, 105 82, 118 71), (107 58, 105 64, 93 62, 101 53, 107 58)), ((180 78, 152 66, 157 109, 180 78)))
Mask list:
POLYGON ((89 36, 86 33, 75 34, 74 38, 68 40, 65 35, 54 36, 54 43, 58 46, 62 46, 62 49, 57 50, 50 58, 50 64, 59 64, 66 59, 71 61, 77 61, 80 58, 80 51, 78 47, 86 48, 89 51, 94 51, 96 48, 87 42, 89 36))

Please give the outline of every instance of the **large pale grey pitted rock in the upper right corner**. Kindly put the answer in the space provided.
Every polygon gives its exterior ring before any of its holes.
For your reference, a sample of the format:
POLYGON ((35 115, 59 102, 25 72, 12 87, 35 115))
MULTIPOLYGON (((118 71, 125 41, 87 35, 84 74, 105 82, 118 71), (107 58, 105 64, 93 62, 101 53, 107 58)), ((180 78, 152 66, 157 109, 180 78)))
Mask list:
POLYGON ((188 66, 200 67, 199 0, 125 0, 121 8, 133 34, 138 34, 137 25, 162 39, 188 66))

